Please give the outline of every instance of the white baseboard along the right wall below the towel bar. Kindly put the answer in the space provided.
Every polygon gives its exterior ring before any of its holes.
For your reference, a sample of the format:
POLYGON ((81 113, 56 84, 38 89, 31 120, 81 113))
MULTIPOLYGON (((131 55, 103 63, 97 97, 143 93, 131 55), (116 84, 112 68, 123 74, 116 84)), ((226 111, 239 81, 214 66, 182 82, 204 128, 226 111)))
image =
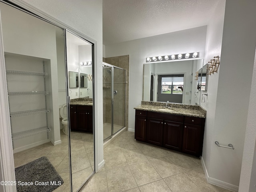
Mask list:
POLYGON ((220 181, 218 179, 214 179, 214 178, 209 177, 206 166, 204 164, 203 157, 201 157, 201 163, 202 163, 204 174, 205 174, 205 177, 206 177, 206 180, 207 180, 208 183, 219 186, 219 187, 222 187, 222 188, 225 188, 225 189, 228 189, 230 191, 238 192, 238 188, 239 188, 238 186, 235 186, 235 185, 232 185, 230 183, 226 183, 224 181, 220 181))

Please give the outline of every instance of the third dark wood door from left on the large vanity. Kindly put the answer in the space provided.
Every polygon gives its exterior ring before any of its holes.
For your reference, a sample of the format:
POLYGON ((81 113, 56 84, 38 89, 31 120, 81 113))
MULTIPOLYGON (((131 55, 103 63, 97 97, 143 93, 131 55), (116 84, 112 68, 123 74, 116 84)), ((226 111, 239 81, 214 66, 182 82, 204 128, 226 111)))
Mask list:
POLYGON ((183 123, 164 121, 163 146, 173 150, 182 150, 183 123))

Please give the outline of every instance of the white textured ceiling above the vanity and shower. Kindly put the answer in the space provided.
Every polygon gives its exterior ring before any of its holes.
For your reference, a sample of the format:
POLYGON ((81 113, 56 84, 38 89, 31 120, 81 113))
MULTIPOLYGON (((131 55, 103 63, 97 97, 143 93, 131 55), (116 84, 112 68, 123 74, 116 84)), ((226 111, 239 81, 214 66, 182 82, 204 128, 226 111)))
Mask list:
POLYGON ((103 44, 204 26, 220 0, 102 0, 103 44))

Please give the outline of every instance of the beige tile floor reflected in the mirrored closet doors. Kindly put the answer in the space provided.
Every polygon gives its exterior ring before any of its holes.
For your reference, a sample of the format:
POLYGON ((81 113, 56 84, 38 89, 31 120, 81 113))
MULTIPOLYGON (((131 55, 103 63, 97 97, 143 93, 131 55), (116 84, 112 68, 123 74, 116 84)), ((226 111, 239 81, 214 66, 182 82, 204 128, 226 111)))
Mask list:
MULTIPOLYGON (((14 167, 22 166, 28 162, 46 156, 54 166, 58 174, 64 180, 64 184, 54 192, 70 191, 69 160, 68 160, 68 136, 60 131, 61 144, 53 146, 51 142, 15 153, 14 167)), ((70 146, 72 156, 73 190, 76 191, 90 176, 94 170, 93 135, 85 132, 71 132, 70 146)))

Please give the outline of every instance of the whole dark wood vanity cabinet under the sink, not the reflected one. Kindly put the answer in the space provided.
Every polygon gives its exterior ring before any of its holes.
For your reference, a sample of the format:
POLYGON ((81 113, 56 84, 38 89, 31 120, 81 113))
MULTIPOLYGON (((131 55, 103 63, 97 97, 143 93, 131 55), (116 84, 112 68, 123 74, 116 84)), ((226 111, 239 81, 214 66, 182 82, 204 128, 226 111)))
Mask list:
POLYGON ((136 110, 135 139, 202 155, 205 118, 136 110))

